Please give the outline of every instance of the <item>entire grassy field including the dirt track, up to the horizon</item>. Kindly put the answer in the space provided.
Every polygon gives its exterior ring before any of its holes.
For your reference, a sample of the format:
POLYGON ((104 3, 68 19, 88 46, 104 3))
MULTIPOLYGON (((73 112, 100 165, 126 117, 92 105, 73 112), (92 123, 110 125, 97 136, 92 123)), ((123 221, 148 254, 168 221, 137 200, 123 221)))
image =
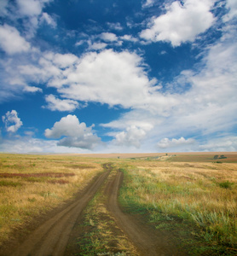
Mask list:
POLYGON ((237 253, 235 153, 0 154, 0 193, 0 255, 237 253))

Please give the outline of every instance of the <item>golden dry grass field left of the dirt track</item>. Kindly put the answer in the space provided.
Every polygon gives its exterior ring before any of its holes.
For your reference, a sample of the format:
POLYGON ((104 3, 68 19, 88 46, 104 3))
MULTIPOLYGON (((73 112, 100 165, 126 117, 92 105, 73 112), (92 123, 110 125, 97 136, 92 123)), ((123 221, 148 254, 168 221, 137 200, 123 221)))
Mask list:
POLYGON ((0 246, 101 171, 100 163, 73 156, 0 154, 0 246))

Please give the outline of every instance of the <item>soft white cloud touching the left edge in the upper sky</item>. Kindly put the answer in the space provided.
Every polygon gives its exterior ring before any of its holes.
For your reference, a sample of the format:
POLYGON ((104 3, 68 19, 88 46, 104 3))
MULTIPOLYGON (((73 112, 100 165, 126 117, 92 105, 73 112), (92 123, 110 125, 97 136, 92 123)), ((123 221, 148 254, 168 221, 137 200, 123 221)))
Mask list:
POLYGON ((0 46, 9 55, 27 52, 31 49, 31 45, 20 36, 20 32, 14 26, 7 24, 0 26, 0 46))

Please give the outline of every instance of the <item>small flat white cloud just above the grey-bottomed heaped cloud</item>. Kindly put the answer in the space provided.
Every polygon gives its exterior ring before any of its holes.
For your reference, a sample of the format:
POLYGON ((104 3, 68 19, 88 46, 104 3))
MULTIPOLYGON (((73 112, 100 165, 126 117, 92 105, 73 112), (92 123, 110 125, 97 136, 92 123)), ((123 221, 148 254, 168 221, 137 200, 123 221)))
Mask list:
POLYGON ((61 100, 50 94, 45 96, 45 101, 48 103, 46 108, 52 111, 74 111, 78 108, 78 102, 72 100, 61 100))

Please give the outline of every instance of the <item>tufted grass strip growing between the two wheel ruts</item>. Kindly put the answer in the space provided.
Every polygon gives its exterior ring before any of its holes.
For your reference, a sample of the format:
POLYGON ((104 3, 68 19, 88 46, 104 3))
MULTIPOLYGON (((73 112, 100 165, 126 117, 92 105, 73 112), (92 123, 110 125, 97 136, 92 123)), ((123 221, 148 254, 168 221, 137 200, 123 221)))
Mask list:
POLYGON ((74 247, 70 255, 137 255, 133 245, 107 212, 106 200, 101 191, 90 201, 83 221, 74 230, 79 234, 77 241, 72 241, 71 245, 69 243, 69 251, 71 246, 74 247))

